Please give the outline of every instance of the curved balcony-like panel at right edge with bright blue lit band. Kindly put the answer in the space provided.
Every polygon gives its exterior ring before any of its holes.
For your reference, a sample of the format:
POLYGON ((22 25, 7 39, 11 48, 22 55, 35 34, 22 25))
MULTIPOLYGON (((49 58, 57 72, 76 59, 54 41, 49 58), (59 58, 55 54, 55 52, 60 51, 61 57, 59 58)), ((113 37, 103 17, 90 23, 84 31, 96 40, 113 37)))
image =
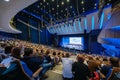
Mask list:
MULTIPOLYGON (((118 4, 120 6, 120 4, 118 4)), ((99 43, 104 43, 103 38, 120 38, 120 35, 115 35, 119 34, 119 26, 120 26, 120 8, 115 7, 113 8, 111 17, 106 23, 104 29, 101 31, 101 33, 98 36, 98 42, 99 43)))

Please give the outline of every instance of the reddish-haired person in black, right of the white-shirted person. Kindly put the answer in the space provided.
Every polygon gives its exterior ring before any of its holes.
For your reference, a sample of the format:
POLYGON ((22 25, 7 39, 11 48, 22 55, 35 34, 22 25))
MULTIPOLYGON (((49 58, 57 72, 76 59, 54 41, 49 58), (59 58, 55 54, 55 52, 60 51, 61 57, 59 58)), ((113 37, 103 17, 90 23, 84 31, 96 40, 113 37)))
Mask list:
POLYGON ((77 62, 74 62, 72 65, 74 80, 88 80, 88 77, 90 77, 90 70, 83 62, 83 57, 78 55, 77 62))

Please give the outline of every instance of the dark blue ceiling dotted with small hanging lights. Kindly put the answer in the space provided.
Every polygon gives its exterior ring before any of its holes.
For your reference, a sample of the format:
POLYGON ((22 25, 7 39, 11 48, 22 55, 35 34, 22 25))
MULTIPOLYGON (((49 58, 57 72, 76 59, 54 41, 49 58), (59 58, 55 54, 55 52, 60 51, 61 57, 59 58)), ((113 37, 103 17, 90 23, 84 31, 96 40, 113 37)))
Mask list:
MULTIPOLYGON (((108 5, 111 0, 108 0, 108 5)), ((23 9, 17 18, 24 17, 39 22, 41 26, 57 24, 66 19, 84 16, 98 9, 99 0, 38 0, 23 9)))

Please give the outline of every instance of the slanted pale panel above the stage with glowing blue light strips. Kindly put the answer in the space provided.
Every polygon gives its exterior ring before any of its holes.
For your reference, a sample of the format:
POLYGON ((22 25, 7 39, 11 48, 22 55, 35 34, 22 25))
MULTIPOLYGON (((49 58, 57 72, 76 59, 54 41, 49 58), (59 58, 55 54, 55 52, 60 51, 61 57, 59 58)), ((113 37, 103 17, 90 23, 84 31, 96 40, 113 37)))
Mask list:
POLYGON ((69 21, 70 26, 69 24, 65 24, 65 23, 63 23, 63 25, 57 24, 48 27, 48 31, 52 34, 56 33, 57 35, 67 35, 67 34, 82 34, 84 33, 84 30, 86 30, 87 33, 89 33, 91 30, 102 29, 104 28, 104 25, 108 20, 107 17, 110 11, 111 11, 111 7, 105 8, 103 10, 104 13, 103 18, 101 18, 99 22, 98 22, 98 11, 96 11, 86 15, 85 17, 82 17, 80 20, 78 18, 75 19, 74 21, 71 20, 71 23, 69 21), (101 23, 102 20, 103 23, 101 23), (60 30, 57 31, 56 28, 58 27, 61 27, 61 29, 63 29, 63 32, 60 32, 60 30), (53 32, 54 30, 55 32, 53 32))

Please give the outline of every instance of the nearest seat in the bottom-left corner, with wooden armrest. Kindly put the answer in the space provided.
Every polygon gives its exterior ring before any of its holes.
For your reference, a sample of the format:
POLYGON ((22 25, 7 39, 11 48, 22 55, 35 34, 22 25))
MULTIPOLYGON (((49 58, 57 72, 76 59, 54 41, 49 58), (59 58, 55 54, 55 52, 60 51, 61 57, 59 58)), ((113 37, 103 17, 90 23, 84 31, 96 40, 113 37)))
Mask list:
MULTIPOLYGON (((42 68, 39 68, 33 76, 36 78, 42 68)), ((30 78, 24 71, 19 60, 15 60, 11 63, 11 66, 0 74, 0 80, 36 80, 30 78)))

